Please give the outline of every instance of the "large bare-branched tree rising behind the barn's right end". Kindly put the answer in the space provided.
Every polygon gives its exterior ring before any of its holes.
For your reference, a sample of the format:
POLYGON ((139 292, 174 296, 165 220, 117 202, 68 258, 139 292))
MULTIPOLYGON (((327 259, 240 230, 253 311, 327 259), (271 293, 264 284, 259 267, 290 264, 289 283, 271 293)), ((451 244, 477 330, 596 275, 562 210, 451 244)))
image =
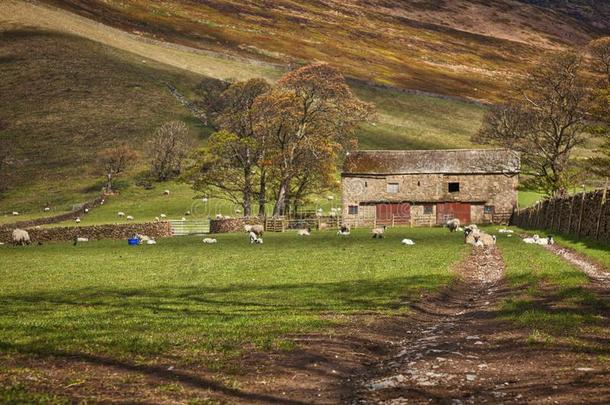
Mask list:
POLYGON ((521 152, 533 183, 552 195, 567 192, 571 154, 585 140, 591 97, 581 64, 572 52, 546 58, 515 89, 519 96, 486 114, 473 138, 521 152))

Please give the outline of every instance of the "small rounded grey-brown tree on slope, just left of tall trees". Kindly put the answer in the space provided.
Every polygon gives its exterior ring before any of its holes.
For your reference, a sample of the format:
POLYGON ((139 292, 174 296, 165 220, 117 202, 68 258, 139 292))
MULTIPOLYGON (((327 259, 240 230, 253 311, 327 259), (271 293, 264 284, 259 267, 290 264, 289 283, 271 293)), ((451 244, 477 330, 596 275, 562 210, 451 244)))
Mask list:
POLYGON ((158 181, 179 175, 191 147, 191 137, 183 122, 170 121, 161 125, 147 144, 151 174, 158 181))

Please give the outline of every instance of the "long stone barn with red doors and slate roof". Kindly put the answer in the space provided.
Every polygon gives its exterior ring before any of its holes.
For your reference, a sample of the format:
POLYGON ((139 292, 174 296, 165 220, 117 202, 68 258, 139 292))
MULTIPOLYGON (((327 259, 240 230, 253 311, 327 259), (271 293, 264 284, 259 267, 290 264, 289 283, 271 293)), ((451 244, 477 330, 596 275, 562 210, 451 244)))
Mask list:
POLYGON ((517 207, 520 165, 507 149, 350 152, 341 174, 343 221, 507 223, 517 207))

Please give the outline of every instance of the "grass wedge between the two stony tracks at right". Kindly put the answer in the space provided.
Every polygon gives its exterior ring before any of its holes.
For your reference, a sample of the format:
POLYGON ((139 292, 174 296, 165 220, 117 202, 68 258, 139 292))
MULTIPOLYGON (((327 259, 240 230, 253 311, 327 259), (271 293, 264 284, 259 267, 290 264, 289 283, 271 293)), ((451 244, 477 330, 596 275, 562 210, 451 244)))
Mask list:
POLYGON ((610 332, 603 315, 610 306, 586 288, 589 280, 582 271, 542 246, 523 243, 517 235, 500 235, 498 245, 506 278, 516 290, 505 300, 501 319, 528 328, 533 344, 607 349, 596 336, 610 332))

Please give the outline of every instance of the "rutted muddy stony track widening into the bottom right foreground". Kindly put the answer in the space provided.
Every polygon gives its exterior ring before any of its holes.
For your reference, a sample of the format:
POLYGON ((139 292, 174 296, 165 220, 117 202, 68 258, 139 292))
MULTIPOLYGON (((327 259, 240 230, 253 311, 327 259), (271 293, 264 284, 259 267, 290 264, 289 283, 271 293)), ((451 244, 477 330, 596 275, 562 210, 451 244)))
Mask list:
POLYGON ((608 403, 607 362, 528 343, 529 331, 501 321, 515 294, 503 272, 497 248, 474 249, 460 281, 415 307, 392 355, 357 378, 351 403, 608 403))

